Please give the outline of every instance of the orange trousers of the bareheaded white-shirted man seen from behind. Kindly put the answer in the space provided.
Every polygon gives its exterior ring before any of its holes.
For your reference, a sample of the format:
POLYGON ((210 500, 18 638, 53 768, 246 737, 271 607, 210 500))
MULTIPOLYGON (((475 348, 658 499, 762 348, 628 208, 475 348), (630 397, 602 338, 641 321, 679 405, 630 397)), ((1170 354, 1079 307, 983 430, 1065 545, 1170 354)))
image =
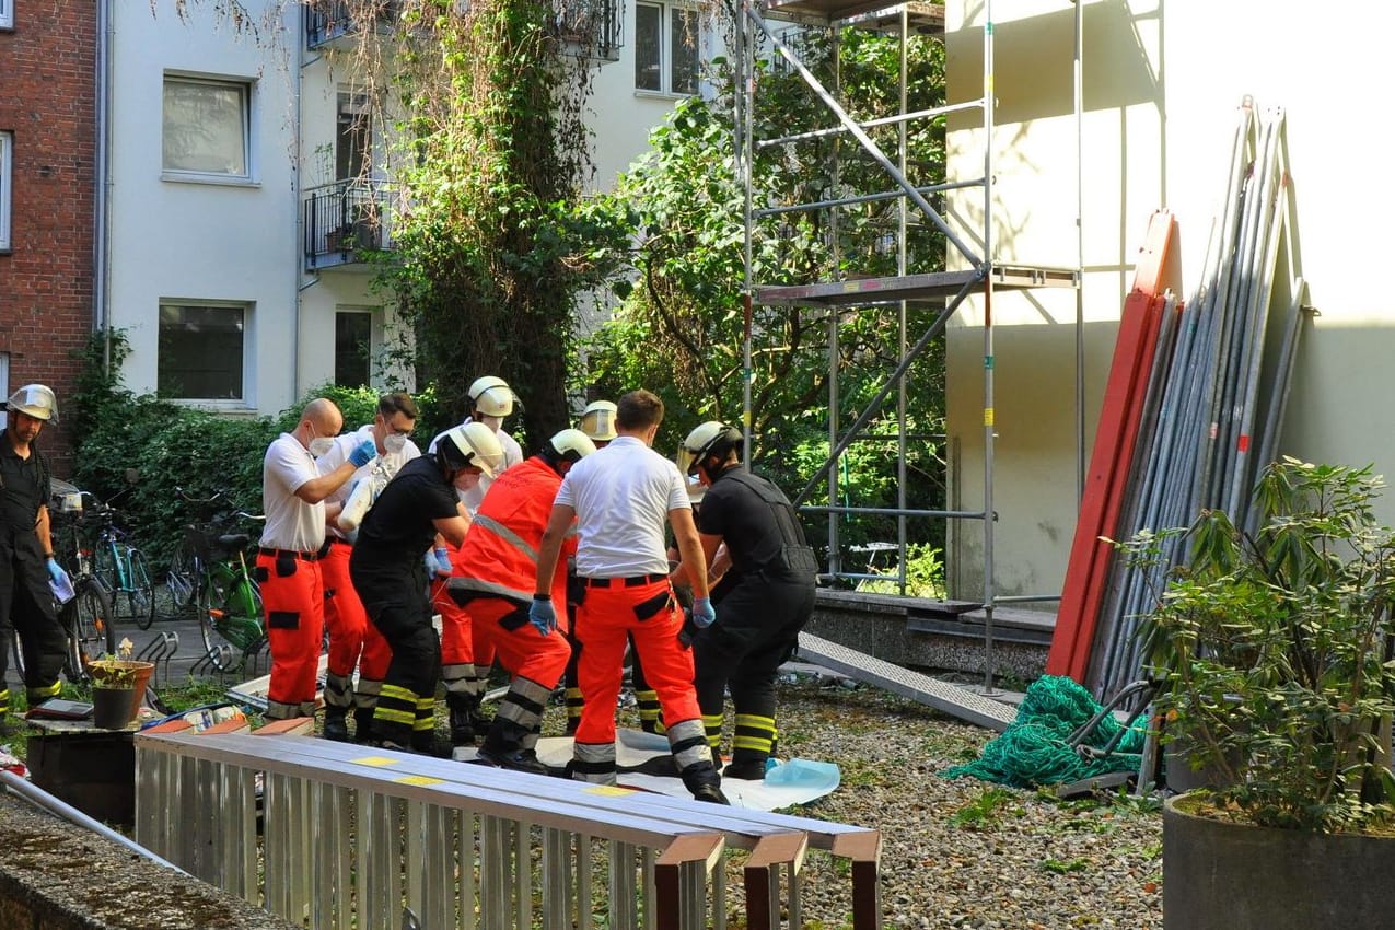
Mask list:
POLYGON ((672 729, 684 721, 702 719, 693 690, 692 650, 678 643, 682 625, 668 579, 636 587, 615 581, 614 587, 586 588, 573 630, 582 646, 576 682, 586 700, 576 726, 578 743, 615 740, 615 701, 625 675, 629 637, 633 637, 649 686, 658 694, 664 725, 672 729), (654 605, 657 611, 651 611, 654 605), (640 619, 639 613, 649 616, 640 619))

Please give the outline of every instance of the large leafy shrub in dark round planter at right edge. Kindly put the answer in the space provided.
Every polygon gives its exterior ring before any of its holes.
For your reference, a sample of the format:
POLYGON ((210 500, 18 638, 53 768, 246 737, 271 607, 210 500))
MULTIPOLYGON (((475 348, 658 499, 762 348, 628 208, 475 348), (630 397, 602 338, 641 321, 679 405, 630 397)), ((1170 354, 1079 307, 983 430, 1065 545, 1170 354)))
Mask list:
MULTIPOLYGON (((1374 927, 1395 867, 1395 533, 1371 468, 1272 464, 1256 530, 1204 512, 1143 629, 1215 784, 1163 813, 1166 927, 1374 927)), ((1136 538, 1137 554, 1156 540, 1136 538)))

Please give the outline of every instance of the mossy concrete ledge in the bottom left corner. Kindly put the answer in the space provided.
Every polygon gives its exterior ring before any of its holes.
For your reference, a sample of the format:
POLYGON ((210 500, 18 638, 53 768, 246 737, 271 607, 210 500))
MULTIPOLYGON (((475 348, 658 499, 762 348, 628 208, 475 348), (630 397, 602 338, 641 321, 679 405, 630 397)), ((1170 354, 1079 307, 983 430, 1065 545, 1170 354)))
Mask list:
POLYGON ((292 930, 218 888, 156 866, 0 792, 0 927, 292 930))

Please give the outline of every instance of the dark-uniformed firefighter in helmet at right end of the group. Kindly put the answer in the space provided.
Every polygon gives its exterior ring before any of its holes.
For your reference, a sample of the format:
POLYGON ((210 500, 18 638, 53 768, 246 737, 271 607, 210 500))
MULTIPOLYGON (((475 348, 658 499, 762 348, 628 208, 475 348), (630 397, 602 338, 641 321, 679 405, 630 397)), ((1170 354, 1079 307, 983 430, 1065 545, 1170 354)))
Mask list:
MULTIPOLYGON (((711 563, 723 544, 731 569, 713 587, 718 619, 693 637, 698 703, 713 754, 721 745, 723 697, 737 714, 728 778, 760 779, 776 743, 776 671, 813 613, 819 563, 799 514, 774 484, 741 464, 741 431, 709 421, 688 434, 679 470, 706 485, 698 531, 711 563)), ((682 580, 685 566, 675 569, 682 580)))

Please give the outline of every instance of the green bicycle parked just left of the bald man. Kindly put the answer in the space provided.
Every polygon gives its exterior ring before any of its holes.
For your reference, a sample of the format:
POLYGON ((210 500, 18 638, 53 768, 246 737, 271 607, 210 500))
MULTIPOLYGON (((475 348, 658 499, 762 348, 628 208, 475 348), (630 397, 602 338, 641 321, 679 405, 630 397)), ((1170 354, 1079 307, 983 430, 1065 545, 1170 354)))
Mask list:
POLYGON ((190 523, 170 559, 169 587, 181 607, 193 605, 209 665, 223 672, 240 668, 266 641, 262 626, 261 587, 247 566, 247 533, 222 533, 232 520, 265 520, 232 508, 227 495, 194 498, 174 488, 201 514, 230 512, 222 519, 190 523), (233 648, 226 648, 233 647, 233 648), (240 658, 234 662, 233 654, 240 658))

